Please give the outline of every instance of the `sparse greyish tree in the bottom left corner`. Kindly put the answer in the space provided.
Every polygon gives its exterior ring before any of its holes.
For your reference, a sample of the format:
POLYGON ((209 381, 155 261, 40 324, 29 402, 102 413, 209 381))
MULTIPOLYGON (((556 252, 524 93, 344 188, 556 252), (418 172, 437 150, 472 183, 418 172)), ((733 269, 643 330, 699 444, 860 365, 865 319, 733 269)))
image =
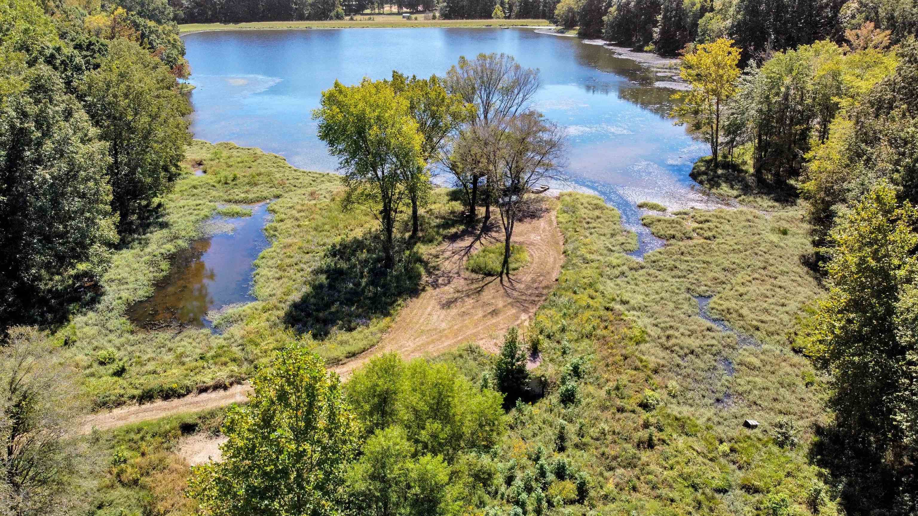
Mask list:
POLYGON ((67 512, 62 493, 74 454, 64 447, 64 424, 78 407, 63 371, 39 331, 10 329, 0 355, 0 504, 10 514, 67 512))

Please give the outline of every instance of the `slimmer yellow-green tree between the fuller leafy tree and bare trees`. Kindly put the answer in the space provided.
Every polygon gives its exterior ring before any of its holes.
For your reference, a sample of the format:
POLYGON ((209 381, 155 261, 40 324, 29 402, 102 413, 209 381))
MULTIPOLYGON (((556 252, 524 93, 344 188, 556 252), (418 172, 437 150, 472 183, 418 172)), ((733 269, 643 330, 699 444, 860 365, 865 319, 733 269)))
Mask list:
POLYGON ((406 167, 400 170, 402 181, 411 202, 411 238, 418 236, 419 208, 426 202, 432 189, 431 174, 426 166, 446 147, 447 140, 475 113, 475 107, 466 104, 459 95, 447 93, 442 79, 431 75, 430 79, 409 79, 401 73, 392 72, 392 87, 396 95, 408 99, 409 112, 418 123, 423 136, 420 159, 424 167, 406 167))

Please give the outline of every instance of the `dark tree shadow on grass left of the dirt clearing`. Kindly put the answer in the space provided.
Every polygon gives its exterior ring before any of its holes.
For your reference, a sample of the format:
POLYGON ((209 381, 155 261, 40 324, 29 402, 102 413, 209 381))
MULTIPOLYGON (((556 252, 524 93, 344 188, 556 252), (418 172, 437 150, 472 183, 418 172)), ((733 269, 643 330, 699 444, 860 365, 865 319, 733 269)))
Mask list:
POLYGON ((353 331, 391 315, 400 299, 420 292, 428 265, 413 248, 397 252, 391 269, 384 263, 375 232, 332 244, 307 292, 286 309, 285 324, 322 340, 333 331, 353 331))

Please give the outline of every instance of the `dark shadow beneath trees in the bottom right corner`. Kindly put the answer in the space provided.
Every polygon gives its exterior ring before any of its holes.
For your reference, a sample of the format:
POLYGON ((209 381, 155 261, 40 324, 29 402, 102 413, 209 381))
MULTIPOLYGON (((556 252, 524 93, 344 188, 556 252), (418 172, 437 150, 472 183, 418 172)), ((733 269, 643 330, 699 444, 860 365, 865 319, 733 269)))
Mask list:
MULTIPOLYGON (((864 432, 830 425, 816 429, 812 464, 825 469, 847 514, 915 514, 918 465, 908 450, 878 445, 864 432), (911 494, 910 494, 911 493, 911 494)), ((902 446, 905 448, 905 446, 902 446)), ((831 493, 826 493, 832 498, 831 493)), ((811 494, 811 510, 817 499, 811 494)))

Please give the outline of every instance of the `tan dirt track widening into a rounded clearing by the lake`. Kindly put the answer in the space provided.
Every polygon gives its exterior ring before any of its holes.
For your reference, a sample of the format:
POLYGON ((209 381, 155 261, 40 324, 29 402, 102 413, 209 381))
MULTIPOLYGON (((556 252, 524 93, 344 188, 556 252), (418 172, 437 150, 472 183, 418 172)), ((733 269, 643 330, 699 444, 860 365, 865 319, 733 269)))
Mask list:
MULTIPOLYGON (((532 317, 554 288, 564 261, 564 239, 558 230, 555 210, 517 222, 513 243, 529 252, 530 263, 503 281, 473 275, 465 270, 466 258, 484 245, 503 241, 503 230, 491 224, 483 235, 462 234, 438 249, 441 262, 428 277, 428 286, 399 312, 392 329, 382 342, 331 369, 342 377, 380 353, 397 352, 404 358, 432 356, 454 349, 465 342, 477 342, 488 351, 497 351, 504 332, 532 317)), ((149 421, 182 412, 192 412, 241 403, 248 399, 248 383, 193 394, 185 398, 130 405, 98 413, 84 421, 80 433, 109 430, 130 423, 149 421)), ((212 446, 207 443, 207 450, 212 446)), ((196 454, 190 445, 186 456, 196 454)), ((203 453, 203 452, 202 452, 203 453)))

